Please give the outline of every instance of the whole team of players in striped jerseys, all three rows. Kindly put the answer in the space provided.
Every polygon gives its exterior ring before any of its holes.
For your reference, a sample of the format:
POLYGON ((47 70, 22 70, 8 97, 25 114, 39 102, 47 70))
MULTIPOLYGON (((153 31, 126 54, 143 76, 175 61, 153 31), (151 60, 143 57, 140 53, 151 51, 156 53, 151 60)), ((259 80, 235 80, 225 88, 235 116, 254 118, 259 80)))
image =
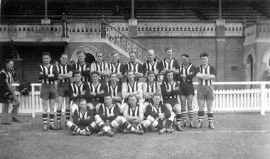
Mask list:
POLYGON ((148 50, 148 60, 144 65, 136 61, 135 52, 129 53, 130 62, 123 65, 119 62, 117 52, 111 54, 112 62, 109 64, 104 62, 102 53, 96 53, 97 61, 89 64, 85 62, 85 53, 79 51, 78 62, 72 66, 68 65, 68 55, 64 53, 58 65, 51 65, 50 53, 43 53, 43 64, 38 72, 42 81, 43 130, 48 130, 48 106, 49 128, 62 128, 60 117, 64 99, 65 126, 75 135, 89 136, 92 131, 99 130, 100 136, 104 133, 113 136, 119 125, 124 128, 124 132, 142 134, 151 130, 160 134, 172 133, 172 123, 177 131, 183 131, 180 122, 183 121, 182 126, 187 126, 187 114, 188 126, 201 128, 205 101, 208 127, 214 128, 212 79, 215 79, 215 67, 208 64, 208 53, 200 54, 201 65, 195 67, 189 62, 189 55, 181 55, 182 65, 178 65, 178 61, 173 58, 173 49, 166 48, 165 51, 167 57, 157 62, 154 51, 148 50), (193 126, 194 76, 199 79, 197 126, 193 126), (141 77, 147 78, 143 84, 139 82, 141 77), (70 82, 70 79, 74 82, 70 82), (57 88, 55 81, 58 82, 57 88), (57 126, 54 126, 56 98, 57 126), (138 99, 144 104, 140 104, 138 99), (73 116, 73 122, 70 121, 70 115, 73 116))

